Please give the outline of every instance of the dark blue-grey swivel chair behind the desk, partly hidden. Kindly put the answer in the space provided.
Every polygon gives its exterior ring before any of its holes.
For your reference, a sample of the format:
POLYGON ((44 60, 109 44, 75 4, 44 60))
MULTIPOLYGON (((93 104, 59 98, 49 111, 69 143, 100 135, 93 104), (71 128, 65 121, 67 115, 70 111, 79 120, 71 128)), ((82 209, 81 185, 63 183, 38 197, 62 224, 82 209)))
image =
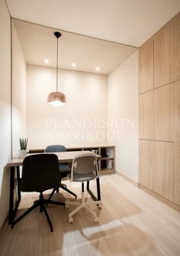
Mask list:
MULTIPOLYGON (((45 149, 46 153, 53 153, 53 152, 66 152, 66 146, 63 145, 50 145, 47 146, 45 149)), ((54 192, 59 192, 59 188, 65 190, 66 192, 69 192, 69 194, 74 195, 75 198, 77 199, 77 195, 73 193, 71 190, 66 188, 66 185, 61 182, 61 179, 66 178, 67 175, 71 172, 71 169, 69 168, 69 165, 67 162, 59 163, 59 174, 60 174, 60 179, 59 179, 59 185, 57 188, 53 189, 52 193, 50 194, 49 200, 52 198, 54 192)))

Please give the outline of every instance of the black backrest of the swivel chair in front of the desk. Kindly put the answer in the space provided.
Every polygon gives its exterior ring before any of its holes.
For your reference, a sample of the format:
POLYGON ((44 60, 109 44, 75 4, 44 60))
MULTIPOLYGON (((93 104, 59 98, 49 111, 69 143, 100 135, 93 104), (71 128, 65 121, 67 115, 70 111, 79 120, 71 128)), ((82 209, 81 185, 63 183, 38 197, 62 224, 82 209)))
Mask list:
POLYGON ((43 192, 59 186, 59 161, 55 154, 27 156, 23 161, 21 191, 43 192))

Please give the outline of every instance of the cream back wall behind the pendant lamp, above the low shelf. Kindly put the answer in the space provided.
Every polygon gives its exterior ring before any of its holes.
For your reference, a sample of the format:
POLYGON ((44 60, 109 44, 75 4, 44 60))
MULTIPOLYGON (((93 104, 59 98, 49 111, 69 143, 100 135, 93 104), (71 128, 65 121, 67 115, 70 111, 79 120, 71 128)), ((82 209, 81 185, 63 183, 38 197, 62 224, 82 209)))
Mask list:
POLYGON ((56 90, 56 69, 27 65, 28 148, 50 144, 65 146, 106 143, 107 76, 59 70, 59 91, 67 105, 47 104, 56 90))

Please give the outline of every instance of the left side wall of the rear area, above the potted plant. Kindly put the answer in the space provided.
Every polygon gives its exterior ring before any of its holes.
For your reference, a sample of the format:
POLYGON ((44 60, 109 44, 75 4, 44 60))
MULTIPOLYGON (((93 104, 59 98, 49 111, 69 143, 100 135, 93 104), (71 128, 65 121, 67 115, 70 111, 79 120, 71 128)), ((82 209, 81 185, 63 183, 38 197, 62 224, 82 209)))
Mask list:
POLYGON ((19 138, 26 136, 26 62, 12 21, 12 155, 18 154, 19 138))

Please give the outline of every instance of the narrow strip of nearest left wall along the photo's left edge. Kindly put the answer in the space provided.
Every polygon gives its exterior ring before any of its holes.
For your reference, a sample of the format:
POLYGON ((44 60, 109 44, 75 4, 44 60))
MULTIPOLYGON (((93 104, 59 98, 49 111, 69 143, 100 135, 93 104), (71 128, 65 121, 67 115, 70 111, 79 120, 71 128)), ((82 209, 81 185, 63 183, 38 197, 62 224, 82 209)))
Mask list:
POLYGON ((8 215, 9 170, 11 159, 11 18, 0 0, 0 227, 8 215))

